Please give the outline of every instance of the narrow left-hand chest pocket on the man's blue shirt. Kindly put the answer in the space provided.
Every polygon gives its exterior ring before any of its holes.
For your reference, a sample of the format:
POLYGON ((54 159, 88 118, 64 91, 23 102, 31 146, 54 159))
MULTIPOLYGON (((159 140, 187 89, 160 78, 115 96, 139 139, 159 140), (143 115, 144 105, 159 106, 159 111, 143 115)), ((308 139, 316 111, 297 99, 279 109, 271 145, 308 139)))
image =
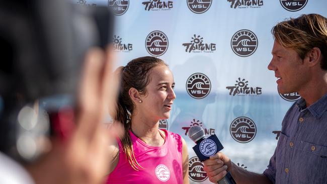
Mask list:
POLYGON ((289 136, 281 132, 278 138, 278 145, 276 149, 276 172, 282 173, 285 165, 287 145, 290 142, 289 136))

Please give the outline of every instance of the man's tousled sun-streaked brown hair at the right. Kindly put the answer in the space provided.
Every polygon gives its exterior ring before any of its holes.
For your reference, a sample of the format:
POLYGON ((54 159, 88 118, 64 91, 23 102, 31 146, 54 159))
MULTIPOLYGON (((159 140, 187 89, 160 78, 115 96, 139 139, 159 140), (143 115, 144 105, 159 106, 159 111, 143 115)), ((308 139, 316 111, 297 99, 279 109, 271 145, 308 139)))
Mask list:
POLYGON ((320 67, 327 70, 327 19, 318 14, 301 15, 283 21, 271 30, 275 41, 294 49, 301 59, 313 48, 321 51, 320 67))

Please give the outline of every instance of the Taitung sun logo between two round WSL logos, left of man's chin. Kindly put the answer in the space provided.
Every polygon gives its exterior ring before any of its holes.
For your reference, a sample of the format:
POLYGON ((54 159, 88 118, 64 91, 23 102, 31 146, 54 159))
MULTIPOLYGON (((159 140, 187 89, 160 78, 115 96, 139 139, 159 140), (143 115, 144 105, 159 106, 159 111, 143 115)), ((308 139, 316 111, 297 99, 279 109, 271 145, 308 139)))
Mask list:
POLYGON ((234 86, 227 86, 226 89, 229 89, 229 95, 231 96, 259 96, 262 94, 261 87, 248 87, 249 81, 246 79, 236 80, 234 86))

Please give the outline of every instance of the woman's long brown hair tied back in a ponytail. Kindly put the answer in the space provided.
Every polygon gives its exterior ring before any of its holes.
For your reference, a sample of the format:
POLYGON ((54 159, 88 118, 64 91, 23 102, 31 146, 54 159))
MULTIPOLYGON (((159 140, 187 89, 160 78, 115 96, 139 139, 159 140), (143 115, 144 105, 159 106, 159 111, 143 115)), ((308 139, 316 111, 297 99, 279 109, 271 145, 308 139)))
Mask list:
POLYGON ((152 68, 160 64, 167 65, 159 58, 146 56, 133 59, 125 67, 118 68, 121 70, 121 83, 115 120, 121 122, 124 126, 125 134, 121 138, 123 151, 126 153, 129 164, 135 170, 143 167, 135 159, 132 141, 129 136, 131 114, 133 114, 134 110, 134 103, 129 97, 129 89, 134 87, 141 95, 145 95, 145 87, 150 82, 149 73, 152 68))

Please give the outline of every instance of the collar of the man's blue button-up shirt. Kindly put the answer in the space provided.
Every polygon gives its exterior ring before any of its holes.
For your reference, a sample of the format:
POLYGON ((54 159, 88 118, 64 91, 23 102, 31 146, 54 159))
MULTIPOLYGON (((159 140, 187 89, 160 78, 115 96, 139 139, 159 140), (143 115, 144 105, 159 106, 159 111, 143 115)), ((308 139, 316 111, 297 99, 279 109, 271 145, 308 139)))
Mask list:
POLYGON ((311 106, 306 108, 306 103, 303 98, 300 98, 296 102, 296 106, 300 111, 308 109, 310 113, 316 118, 319 119, 323 113, 327 110, 327 94, 321 97, 317 102, 313 103, 311 106))

